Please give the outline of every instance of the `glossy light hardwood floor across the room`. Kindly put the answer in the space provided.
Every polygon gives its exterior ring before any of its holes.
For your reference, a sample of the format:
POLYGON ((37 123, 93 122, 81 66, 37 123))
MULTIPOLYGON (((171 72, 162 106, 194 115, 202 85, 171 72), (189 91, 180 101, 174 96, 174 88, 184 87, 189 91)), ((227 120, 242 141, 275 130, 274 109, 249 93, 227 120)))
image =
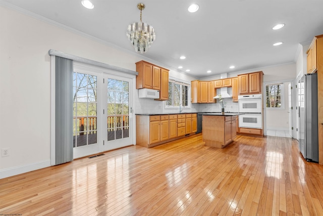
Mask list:
POLYGON ((0 214, 322 215, 323 166, 297 145, 237 136, 216 149, 199 134, 130 146, 0 180, 0 214))

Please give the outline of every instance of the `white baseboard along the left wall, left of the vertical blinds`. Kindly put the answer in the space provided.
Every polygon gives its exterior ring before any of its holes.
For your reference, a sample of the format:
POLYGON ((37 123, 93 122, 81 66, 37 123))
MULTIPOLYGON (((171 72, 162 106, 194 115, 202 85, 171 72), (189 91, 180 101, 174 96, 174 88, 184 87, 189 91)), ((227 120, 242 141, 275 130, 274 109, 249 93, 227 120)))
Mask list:
POLYGON ((31 163, 23 166, 11 167, 8 169, 0 170, 0 179, 4 179, 11 176, 16 176, 23 174, 25 172, 30 172, 36 169, 41 169, 50 166, 50 160, 44 160, 37 163, 31 163))

